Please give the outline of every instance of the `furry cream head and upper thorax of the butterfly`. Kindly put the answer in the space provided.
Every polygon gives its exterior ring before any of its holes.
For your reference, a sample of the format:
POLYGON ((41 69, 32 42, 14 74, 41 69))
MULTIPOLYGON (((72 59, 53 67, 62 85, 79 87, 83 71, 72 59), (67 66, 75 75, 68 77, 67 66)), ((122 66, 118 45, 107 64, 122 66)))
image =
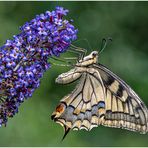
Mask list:
POLYGON ((76 66, 89 66, 96 64, 98 63, 98 56, 98 51, 93 51, 88 56, 85 56, 83 59, 79 60, 76 66))

